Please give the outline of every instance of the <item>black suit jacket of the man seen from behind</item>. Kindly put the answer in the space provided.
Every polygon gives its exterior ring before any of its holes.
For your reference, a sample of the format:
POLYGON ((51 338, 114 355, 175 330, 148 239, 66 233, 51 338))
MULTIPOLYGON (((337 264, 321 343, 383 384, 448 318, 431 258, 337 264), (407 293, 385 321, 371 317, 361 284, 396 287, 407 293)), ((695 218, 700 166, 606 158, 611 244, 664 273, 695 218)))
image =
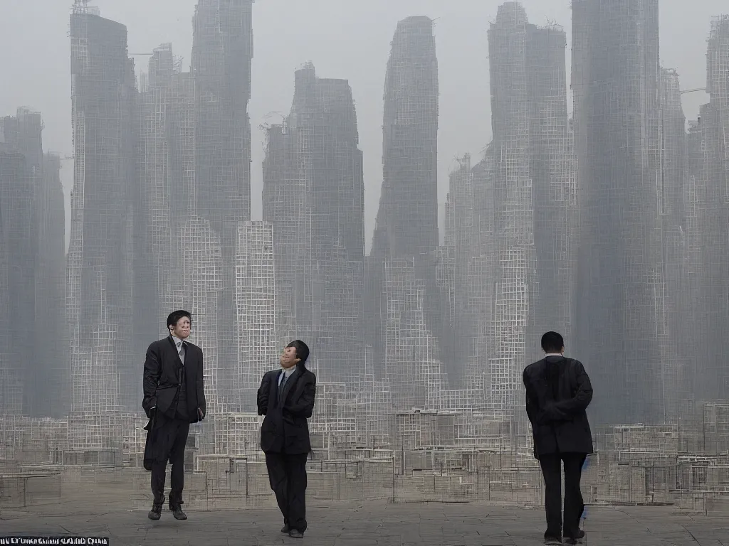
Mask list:
POLYGON ((592 453, 592 432, 585 410, 593 389, 582 363, 572 358, 546 357, 527 366, 523 379, 534 456, 592 453))

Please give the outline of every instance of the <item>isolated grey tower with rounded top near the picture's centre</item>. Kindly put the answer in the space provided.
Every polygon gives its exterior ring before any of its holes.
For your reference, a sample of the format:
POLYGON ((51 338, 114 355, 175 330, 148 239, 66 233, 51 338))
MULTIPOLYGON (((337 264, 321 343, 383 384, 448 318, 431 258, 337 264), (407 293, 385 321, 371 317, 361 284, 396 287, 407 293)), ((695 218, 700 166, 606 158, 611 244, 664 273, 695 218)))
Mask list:
MULTIPOLYGON (((426 325, 440 336, 436 286, 438 246, 438 66, 433 21, 408 17, 397 24, 385 76, 383 184, 367 260, 367 343, 383 372, 387 301, 385 262, 414 256, 426 282, 426 325)), ((424 335, 424 334, 423 334, 424 335)), ((437 355, 440 357, 440 355, 437 355)))

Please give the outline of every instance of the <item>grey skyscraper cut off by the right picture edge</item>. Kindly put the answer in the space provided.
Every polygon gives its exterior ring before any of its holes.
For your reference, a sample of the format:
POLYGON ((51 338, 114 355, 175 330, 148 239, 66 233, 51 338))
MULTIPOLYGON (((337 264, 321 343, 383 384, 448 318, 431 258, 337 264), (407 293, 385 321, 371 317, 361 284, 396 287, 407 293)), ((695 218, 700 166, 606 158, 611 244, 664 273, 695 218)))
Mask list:
POLYGON ((698 400, 729 397, 729 371, 723 348, 729 328, 729 170, 726 165, 729 122, 729 16, 712 21, 706 54, 706 91, 689 135, 687 199, 688 251, 693 301, 693 380, 698 400))

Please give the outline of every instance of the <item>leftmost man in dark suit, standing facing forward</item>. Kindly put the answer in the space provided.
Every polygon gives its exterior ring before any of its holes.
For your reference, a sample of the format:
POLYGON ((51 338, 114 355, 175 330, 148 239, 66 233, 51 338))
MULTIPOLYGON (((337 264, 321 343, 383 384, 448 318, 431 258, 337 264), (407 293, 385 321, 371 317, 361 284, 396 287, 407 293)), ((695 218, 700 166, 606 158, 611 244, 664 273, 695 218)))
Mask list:
POLYGON ((175 311, 167 317, 170 335, 147 349, 144 361, 144 400, 149 417, 144 468, 152 470, 155 498, 149 519, 158 520, 165 502, 165 469, 172 464, 169 507, 177 520, 186 520, 182 511, 184 488, 184 448, 190 424, 205 417, 203 352, 185 341, 190 337, 192 316, 175 311))

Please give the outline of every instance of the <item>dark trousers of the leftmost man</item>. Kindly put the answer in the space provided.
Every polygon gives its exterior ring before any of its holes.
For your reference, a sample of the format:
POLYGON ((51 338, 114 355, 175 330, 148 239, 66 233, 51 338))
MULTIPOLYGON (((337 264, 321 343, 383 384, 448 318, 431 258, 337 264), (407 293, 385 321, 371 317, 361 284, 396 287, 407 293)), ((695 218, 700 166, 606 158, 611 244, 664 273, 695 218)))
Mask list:
POLYGON ((182 419, 160 419, 155 427, 155 461, 152 463, 152 494, 155 505, 165 502, 165 470, 167 461, 172 464, 170 475, 171 503, 182 504, 184 489, 184 447, 190 432, 190 422, 182 419))

